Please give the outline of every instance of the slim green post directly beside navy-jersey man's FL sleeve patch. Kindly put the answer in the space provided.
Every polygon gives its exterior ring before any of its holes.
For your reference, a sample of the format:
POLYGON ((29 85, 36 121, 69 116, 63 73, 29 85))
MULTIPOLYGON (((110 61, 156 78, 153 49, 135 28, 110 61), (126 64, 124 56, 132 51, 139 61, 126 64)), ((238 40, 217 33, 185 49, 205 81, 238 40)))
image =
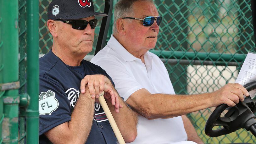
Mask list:
POLYGON ((27 90, 30 105, 26 111, 28 144, 39 142, 39 1, 27 0, 27 90))

